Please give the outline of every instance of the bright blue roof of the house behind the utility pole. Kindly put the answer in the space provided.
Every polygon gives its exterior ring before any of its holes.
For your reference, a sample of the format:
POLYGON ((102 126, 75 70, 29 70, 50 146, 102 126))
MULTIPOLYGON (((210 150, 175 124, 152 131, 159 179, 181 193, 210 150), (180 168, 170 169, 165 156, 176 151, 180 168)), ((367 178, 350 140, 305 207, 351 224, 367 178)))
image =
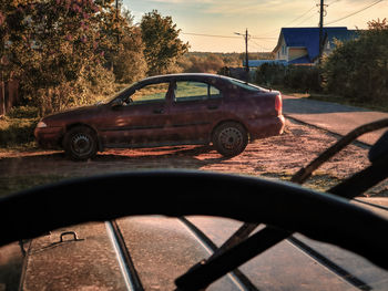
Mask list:
MULTIPOLYGON (((280 45, 282 35, 287 46, 306 48, 309 62, 314 62, 319 55, 319 28, 283 28, 275 50, 280 45)), ((346 27, 324 28, 324 38, 333 44, 334 40, 348 41, 356 39, 356 30, 348 30, 346 27)), ((274 51, 275 51, 274 50, 274 51)))

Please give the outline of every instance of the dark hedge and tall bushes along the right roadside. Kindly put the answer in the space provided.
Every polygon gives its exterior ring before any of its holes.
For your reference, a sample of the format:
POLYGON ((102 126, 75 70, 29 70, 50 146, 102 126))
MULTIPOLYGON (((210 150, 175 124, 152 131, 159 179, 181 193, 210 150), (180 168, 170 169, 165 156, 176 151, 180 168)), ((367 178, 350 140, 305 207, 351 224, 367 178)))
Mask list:
POLYGON ((321 65, 264 64, 256 72, 262 85, 325 92, 361 103, 388 104, 388 21, 374 20, 359 38, 325 55, 321 65))

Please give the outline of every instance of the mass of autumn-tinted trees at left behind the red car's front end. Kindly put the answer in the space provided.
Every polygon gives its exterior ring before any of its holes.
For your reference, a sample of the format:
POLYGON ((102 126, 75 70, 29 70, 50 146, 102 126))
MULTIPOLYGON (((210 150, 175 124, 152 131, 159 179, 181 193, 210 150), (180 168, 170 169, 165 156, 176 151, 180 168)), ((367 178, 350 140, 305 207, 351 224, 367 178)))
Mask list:
POLYGON ((133 24, 114 0, 2 0, 0 70, 41 114, 94 102, 115 83, 175 70, 188 50, 156 10, 133 24))

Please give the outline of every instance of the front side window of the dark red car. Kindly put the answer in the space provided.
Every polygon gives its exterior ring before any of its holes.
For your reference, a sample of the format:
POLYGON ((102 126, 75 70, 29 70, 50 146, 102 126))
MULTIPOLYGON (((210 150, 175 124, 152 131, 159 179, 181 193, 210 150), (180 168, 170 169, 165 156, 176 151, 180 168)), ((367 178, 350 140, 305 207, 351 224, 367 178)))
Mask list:
POLYGON ((145 85, 136 90, 130 97, 131 104, 164 102, 169 92, 170 83, 145 85))

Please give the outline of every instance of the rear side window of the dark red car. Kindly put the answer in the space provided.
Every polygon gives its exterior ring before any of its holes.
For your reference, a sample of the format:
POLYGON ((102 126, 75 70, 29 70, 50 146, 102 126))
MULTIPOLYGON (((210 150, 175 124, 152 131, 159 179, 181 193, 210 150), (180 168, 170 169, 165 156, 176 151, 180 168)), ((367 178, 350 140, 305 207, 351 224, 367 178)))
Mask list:
POLYGON ((203 82, 178 81, 176 82, 175 102, 198 101, 221 97, 218 89, 203 82))

